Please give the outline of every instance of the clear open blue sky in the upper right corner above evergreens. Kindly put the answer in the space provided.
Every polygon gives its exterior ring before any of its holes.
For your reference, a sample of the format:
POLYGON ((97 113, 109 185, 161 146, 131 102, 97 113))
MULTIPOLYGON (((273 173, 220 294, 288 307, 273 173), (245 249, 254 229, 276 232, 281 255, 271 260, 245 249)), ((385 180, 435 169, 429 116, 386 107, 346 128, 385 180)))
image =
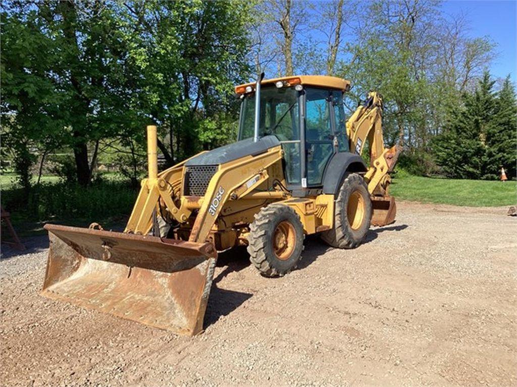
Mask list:
POLYGON ((497 58, 490 67, 495 78, 511 74, 517 79, 517 0, 494 1, 446 1, 445 13, 463 13, 469 21, 468 34, 472 37, 489 36, 496 44, 497 58))

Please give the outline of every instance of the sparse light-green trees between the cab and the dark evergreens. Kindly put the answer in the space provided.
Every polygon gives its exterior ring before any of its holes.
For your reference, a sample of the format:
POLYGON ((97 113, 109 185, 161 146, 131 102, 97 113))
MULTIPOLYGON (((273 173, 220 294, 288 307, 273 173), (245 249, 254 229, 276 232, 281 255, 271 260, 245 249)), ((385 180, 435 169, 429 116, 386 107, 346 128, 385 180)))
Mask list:
POLYGON ((387 142, 404 145, 401 162, 408 158, 421 173, 431 173, 430 140, 444 130, 458 95, 493 59, 494 46, 486 37, 468 38, 461 15, 444 17, 434 0, 381 0, 358 11, 367 16, 347 26, 353 32, 345 46, 350 60, 337 67, 353 80, 348 106, 353 110, 369 90, 379 91, 387 142))

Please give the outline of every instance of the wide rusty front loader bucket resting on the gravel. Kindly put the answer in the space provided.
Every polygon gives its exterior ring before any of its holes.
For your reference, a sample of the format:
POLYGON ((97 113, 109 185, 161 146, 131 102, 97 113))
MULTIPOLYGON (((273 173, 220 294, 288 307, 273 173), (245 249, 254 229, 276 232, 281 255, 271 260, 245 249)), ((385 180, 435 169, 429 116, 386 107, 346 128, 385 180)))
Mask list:
POLYGON ((217 251, 209 243, 45 225, 50 249, 41 295, 194 335, 217 251))

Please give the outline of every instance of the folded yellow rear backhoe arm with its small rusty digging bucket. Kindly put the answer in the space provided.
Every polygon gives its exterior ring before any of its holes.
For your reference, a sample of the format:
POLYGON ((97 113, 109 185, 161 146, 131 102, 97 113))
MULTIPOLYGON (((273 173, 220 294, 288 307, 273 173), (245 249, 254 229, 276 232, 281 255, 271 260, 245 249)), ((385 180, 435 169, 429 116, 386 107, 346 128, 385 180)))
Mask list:
POLYGON ((389 196, 391 183, 389 173, 393 170, 402 147, 399 144, 391 148, 384 147, 382 127, 382 98, 375 91, 368 94, 364 105, 357 107, 346 122, 346 134, 350 149, 361 155, 364 144, 368 141, 370 166, 364 175, 368 191, 372 197, 374 215, 372 224, 384 225, 394 221, 396 206, 389 196))

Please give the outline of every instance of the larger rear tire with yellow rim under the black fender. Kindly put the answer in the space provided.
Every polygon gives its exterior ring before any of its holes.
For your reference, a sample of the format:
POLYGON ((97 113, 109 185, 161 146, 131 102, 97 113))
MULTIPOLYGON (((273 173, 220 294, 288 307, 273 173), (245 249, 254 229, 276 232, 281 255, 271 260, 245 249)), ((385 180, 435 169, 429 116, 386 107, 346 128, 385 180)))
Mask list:
POLYGON ((353 249, 359 246, 372 221, 372 201, 368 186, 357 173, 346 176, 334 202, 334 228, 321 233, 330 246, 353 249))

